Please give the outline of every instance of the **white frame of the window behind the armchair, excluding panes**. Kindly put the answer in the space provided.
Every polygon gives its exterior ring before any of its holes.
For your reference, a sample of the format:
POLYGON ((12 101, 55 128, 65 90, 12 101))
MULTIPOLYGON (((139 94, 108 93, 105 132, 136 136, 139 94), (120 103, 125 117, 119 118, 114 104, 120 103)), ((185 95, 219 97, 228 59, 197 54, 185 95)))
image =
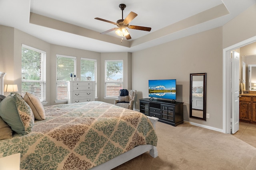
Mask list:
POLYGON ((104 99, 114 99, 117 98, 119 96, 119 90, 122 89, 124 87, 124 61, 123 60, 105 60, 105 93, 104 93, 104 99), (122 62, 122 81, 120 80, 107 80, 107 63, 108 62, 122 62), (107 95, 107 84, 108 83, 112 83, 112 84, 120 84, 120 87, 118 87, 118 89, 116 89, 116 95, 107 95))

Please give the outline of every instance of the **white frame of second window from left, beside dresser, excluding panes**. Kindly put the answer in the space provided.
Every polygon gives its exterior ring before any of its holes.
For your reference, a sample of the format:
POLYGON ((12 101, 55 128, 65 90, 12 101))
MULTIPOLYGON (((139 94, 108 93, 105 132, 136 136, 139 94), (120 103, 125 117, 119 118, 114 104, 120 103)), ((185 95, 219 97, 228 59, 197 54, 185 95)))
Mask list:
POLYGON ((74 75, 76 75, 76 57, 73 57, 73 56, 67 56, 67 55, 56 55, 56 93, 55 93, 55 103, 62 103, 62 102, 68 102, 68 81, 71 80, 70 78, 70 74, 72 73, 72 76, 74 77, 74 75), (58 80, 58 68, 57 68, 57 58, 58 57, 62 57, 62 58, 69 58, 69 59, 74 59, 74 72, 70 72, 70 73, 67 73, 67 79, 66 80, 58 80), (63 82, 65 83, 66 87, 67 87, 67 91, 66 91, 66 94, 67 94, 67 98, 66 99, 58 99, 57 96, 58 96, 58 89, 57 89, 57 83, 58 82, 63 82))

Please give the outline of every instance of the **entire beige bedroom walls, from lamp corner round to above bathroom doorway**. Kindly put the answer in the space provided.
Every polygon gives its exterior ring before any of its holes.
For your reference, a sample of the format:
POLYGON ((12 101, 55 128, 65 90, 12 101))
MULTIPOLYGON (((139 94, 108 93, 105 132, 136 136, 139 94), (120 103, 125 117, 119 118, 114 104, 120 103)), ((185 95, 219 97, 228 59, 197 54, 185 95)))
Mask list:
MULTIPOLYGON (((104 100, 104 61, 124 60, 124 88, 137 90, 138 98, 148 97, 149 79, 177 79, 177 101, 184 102, 184 120, 222 129, 223 49, 256 36, 256 5, 218 27, 195 35, 170 41, 134 53, 97 53, 58 45, 51 45, 11 27, 0 27, 0 68, 7 72, 6 83, 16 83, 21 89, 21 44, 41 49, 47 54, 47 101, 55 104, 56 54, 97 59, 98 97, 104 100), (50 56, 50 57, 49 57, 50 56), (98 61, 100 60, 100 61, 98 61), (132 71, 131 71, 132 70, 132 71), (206 112, 210 119, 189 118, 189 75, 207 73, 206 112), (132 79, 132 81, 130 81, 132 79)), ((243 53, 241 51, 241 53, 243 53)), ((79 60, 78 59, 78 60, 79 60)), ((78 61, 78 65, 79 65, 78 61)), ((79 72, 79 66, 77 72, 79 72)), ((137 100, 138 101, 138 100, 137 100)), ((139 106, 136 105, 136 109, 139 106)))

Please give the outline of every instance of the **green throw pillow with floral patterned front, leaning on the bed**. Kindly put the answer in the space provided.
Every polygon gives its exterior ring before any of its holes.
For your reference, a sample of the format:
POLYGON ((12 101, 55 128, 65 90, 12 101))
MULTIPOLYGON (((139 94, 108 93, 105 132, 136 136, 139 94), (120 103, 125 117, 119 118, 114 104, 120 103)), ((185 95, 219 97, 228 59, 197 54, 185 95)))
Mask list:
POLYGON ((17 93, 10 94, 0 102, 0 117, 20 135, 30 133, 34 126, 30 106, 17 93))

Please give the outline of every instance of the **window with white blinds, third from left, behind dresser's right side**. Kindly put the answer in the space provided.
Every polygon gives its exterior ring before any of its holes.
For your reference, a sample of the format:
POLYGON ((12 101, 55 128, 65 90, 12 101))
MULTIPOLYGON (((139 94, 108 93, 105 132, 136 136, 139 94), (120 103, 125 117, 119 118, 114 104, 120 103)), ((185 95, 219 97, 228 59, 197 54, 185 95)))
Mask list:
POLYGON ((97 61, 81 58, 81 81, 86 81, 87 77, 95 81, 95 97, 97 97, 97 61))

